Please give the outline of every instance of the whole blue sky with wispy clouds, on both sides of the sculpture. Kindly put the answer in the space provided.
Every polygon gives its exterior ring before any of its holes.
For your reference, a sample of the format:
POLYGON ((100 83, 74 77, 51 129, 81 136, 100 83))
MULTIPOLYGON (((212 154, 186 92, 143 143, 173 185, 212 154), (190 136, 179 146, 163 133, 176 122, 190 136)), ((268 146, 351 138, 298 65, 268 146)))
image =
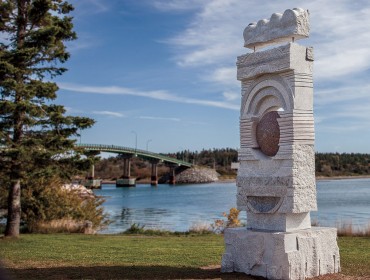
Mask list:
POLYGON ((310 11, 318 152, 370 153, 370 2, 71 0, 78 40, 58 103, 96 124, 82 143, 158 153, 239 147, 243 30, 310 11))

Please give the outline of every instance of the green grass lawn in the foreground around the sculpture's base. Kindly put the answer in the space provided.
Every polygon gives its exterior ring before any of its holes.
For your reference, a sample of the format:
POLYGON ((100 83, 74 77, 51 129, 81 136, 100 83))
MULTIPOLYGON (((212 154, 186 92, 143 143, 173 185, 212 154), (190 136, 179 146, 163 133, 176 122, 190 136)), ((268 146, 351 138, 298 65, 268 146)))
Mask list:
MULTIPOLYGON (((370 278, 370 238, 341 237, 339 246, 342 273, 370 278)), ((223 236, 215 234, 30 234, 0 240, 11 279, 258 279, 221 274, 223 251, 223 236)))

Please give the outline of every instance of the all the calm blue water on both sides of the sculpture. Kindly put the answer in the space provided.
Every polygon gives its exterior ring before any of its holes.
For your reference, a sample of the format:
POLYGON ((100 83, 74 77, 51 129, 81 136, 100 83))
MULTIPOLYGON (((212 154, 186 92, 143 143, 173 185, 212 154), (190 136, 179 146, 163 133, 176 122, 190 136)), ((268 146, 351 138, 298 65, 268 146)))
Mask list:
MULTIPOLYGON (((102 233, 122 232, 132 223, 187 231, 197 224, 223 218, 222 213, 236 203, 235 183, 133 188, 103 185, 95 193, 106 199, 104 208, 113 221, 102 233)), ((312 220, 321 225, 349 221, 355 226, 370 224, 370 179, 318 181, 317 193, 319 211, 311 212, 312 220)), ((245 212, 241 220, 246 222, 245 212)))

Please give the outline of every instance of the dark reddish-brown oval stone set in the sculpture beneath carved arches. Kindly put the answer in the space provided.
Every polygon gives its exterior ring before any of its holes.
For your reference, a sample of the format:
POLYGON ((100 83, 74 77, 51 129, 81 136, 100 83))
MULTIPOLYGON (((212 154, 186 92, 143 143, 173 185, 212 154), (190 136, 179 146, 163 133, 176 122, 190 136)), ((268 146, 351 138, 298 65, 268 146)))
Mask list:
POLYGON ((256 128, 257 143, 262 153, 270 157, 276 155, 279 150, 280 127, 278 118, 278 112, 268 112, 258 122, 256 128))

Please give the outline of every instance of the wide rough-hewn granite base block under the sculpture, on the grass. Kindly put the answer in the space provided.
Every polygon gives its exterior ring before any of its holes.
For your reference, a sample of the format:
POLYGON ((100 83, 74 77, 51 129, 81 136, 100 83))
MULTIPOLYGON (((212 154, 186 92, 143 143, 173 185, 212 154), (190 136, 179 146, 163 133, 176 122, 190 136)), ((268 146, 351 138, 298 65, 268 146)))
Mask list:
POLYGON ((340 272, 336 228, 313 227, 292 232, 228 228, 225 243, 222 272, 284 280, 340 272))

